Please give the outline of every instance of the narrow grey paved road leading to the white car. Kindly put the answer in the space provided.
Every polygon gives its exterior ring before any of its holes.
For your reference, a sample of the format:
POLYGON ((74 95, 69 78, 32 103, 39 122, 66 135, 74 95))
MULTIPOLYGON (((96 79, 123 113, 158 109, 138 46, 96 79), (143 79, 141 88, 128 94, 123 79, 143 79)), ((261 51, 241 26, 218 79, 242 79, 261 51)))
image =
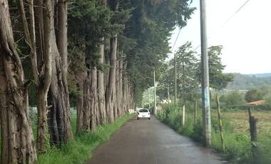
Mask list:
POLYGON ((133 118, 96 148, 91 164, 216 164, 220 157, 156 118, 133 118))

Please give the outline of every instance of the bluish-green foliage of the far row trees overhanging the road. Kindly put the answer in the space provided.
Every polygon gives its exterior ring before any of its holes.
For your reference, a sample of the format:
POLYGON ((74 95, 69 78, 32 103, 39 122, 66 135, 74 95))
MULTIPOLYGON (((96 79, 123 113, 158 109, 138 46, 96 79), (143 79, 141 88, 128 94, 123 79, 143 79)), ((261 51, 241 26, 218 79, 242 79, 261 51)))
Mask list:
POLYGON ((170 52, 170 31, 176 25, 185 26, 194 9, 189 7, 189 1, 177 0, 131 1, 126 8, 133 11, 123 35, 133 39, 136 44, 120 51, 126 54, 128 75, 136 87, 137 97, 140 97, 146 88, 153 86, 153 80, 147 78, 153 77, 153 70, 157 78, 163 71, 163 61, 170 52))

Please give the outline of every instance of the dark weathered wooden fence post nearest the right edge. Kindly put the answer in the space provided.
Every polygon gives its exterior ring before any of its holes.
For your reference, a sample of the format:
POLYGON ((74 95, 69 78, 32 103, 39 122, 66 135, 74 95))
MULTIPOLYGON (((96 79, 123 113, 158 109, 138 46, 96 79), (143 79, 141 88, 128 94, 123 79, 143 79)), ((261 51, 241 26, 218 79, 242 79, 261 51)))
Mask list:
POLYGON ((257 118, 254 116, 251 116, 251 110, 248 108, 248 115, 250 119, 250 138, 251 138, 251 151, 252 151, 252 160, 254 163, 257 162, 257 145, 255 145, 255 142, 257 142, 257 118))

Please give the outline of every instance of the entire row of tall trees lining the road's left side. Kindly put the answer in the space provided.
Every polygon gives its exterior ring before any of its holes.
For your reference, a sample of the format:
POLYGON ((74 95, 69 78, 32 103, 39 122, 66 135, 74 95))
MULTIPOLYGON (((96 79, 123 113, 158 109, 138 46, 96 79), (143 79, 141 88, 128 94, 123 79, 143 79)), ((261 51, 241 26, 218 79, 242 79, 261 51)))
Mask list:
POLYGON ((78 133, 123 116, 152 85, 170 31, 194 10, 188 0, 0 4, 1 163, 36 163, 48 141, 60 148, 73 138, 70 106, 78 133), (37 106, 36 142, 29 102, 37 106))

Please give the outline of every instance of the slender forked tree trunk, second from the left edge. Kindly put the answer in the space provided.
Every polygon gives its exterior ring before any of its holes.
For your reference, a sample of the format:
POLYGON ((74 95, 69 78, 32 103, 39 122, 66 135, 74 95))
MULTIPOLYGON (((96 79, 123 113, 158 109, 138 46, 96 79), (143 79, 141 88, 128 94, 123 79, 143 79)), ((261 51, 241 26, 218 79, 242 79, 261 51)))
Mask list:
POLYGON ((24 27, 24 36, 30 48, 31 68, 34 83, 38 92, 38 128, 37 148, 40 152, 46 150, 46 113, 47 93, 51 83, 51 3, 49 1, 35 1, 36 21, 34 16, 34 0, 25 3, 20 0, 21 19, 24 27), (24 4, 29 7, 29 21, 26 19, 24 4), (35 31, 35 24, 37 29, 35 31), (36 38, 36 34, 39 34, 36 38), (36 44, 37 40, 37 44, 36 44), (36 45, 39 47, 37 48, 36 45), (37 55, 37 50, 39 51, 37 55), (37 57, 38 56, 38 57, 37 57))

